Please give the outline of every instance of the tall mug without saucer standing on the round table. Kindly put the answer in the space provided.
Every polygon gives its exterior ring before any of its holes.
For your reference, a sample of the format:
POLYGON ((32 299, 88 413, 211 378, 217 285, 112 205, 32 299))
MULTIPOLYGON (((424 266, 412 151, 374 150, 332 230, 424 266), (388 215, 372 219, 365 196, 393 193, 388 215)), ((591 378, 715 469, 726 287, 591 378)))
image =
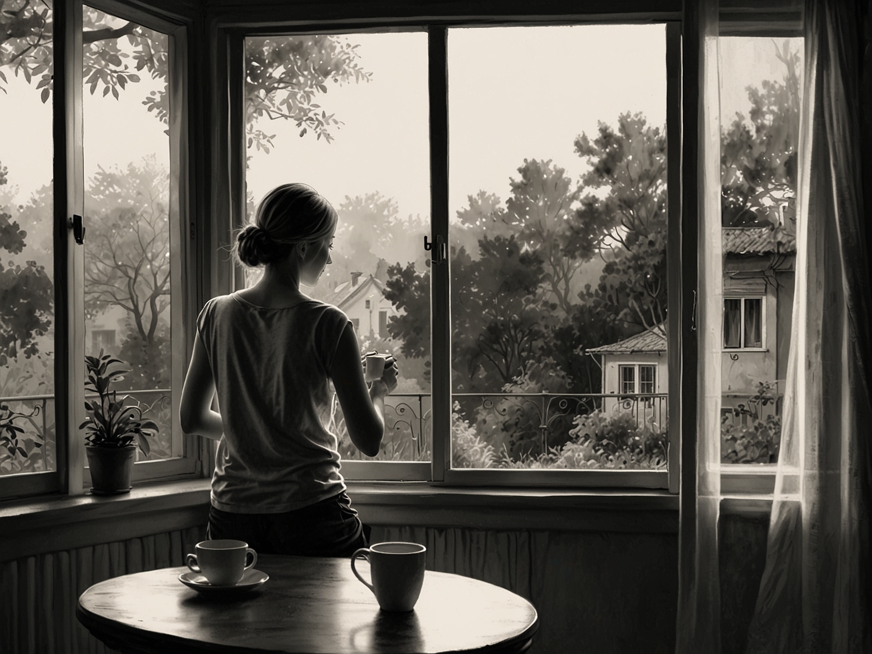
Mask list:
POLYGON ((351 555, 351 571, 372 591, 386 611, 411 611, 424 584, 427 548, 417 542, 377 542, 351 555), (372 583, 364 580, 354 563, 370 562, 372 583))

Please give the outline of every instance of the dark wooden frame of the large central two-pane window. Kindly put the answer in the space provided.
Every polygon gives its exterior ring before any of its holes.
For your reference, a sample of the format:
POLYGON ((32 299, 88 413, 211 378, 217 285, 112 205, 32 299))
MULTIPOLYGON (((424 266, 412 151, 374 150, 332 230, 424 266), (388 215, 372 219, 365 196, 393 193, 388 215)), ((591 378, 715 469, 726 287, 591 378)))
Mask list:
MULTIPOLYGON (((673 128, 667 130, 667 187, 677 188, 680 175, 679 153, 680 132, 674 126, 681 122, 681 72, 680 21, 674 16, 652 18, 652 22, 664 25, 666 45, 666 98, 667 125, 673 128)), ((227 51, 228 67, 222 72, 221 85, 228 88, 228 130, 227 153, 229 165, 228 184, 235 201, 230 203, 230 210, 224 215, 218 229, 227 228, 222 237, 228 239, 232 229, 241 228, 247 220, 243 198, 245 198, 245 140, 243 125, 243 88, 244 88, 244 38, 276 34, 346 34, 352 32, 385 32, 385 31, 426 31, 428 33, 429 62, 429 105, 430 105, 430 188, 431 188, 431 231, 432 241, 448 242, 448 71, 447 71, 447 33, 454 27, 475 26, 539 26, 557 24, 633 24, 637 23, 630 17, 626 19, 610 17, 505 17, 493 18, 486 23, 474 17, 452 17, 428 20, 378 20, 339 23, 336 20, 324 20, 313 23, 301 20, 299 22, 282 21, 256 23, 246 21, 238 24, 230 21, 219 28, 218 41, 224 44, 227 51)), ((667 260, 680 262, 680 205, 670 202, 668 208, 667 228, 667 260)), ((432 364, 431 401, 433 413, 432 425, 432 457, 429 463, 416 461, 347 461, 342 464, 342 472, 349 480, 429 480, 432 483, 450 485, 489 485, 489 486, 555 486, 555 487, 641 487, 641 488, 678 488, 678 460, 670 455, 668 470, 616 471, 616 470, 501 470, 501 469, 457 469, 450 467, 451 441, 451 370, 450 370, 450 262, 437 262, 438 249, 433 249, 431 271, 431 352, 432 364), (442 316, 442 320, 433 317, 442 316)), ((227 263, 224 263, 226 266, 227 263)), ((232 264, 230 264, 232 265, 232 264)), ((681 268, 678 265, 668 266, 681 268)), ((670 273, 670 283, 674 274, 670 273)), ((215 289, 215 294, 228 293, 242 288, 244 279, 239 269, 228 269, 225 273, 228 280, 233 280, 227 287, 215 289)), ((678 276, 680 283, 681 276, 678 276)), ((671 287, 670 287, 671 288, 671 287)), ((677 287, 678 288, 678 287, 677 287)), ((680 319, 680 309, 673 310, 670 301, 669 320, 672 326, 669 333, 677 334, 680 319)), ((680 307, 680 304, 678 305, 680 307)), ((678 349, 678 337, 671 337, 668 346, 670 351, 678 349)), ((681 364, 681 359, 672 358, 671 362, 681 364)), ((671 378, 670 397, 668 402, 670 415, 678 415, 677 402, 672 399, 678 389, 676 374, 671 378), (673 413, 674 412, 674 413, 673 413)), ((678 450, 678 426, 670 426, 670 453, 678 450)))

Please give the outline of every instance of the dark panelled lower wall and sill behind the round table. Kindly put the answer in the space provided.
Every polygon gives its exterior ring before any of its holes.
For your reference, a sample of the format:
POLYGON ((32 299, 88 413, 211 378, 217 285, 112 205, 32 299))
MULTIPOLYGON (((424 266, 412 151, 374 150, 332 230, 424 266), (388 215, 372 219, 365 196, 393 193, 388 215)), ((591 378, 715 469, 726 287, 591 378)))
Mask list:
MULTIPOLYGON (((572 507, 555 494, 494 492, 472 500, 464 492, 459 506, 460 495, 447 493, 358 488, 352 500, 373 541, 422 543, 427 569, 491 582, 531 601, 540 627, 530 654, 674 651, 677 512, 621 511, 602 497, 572 507)), ((69 503, 75 506, 53 501, 31 515, 0 508, 2 654, 111 652, 79 626, 78 596, 112 576, 183 565, 205 537, 208 482, 69 503)), ((744 650, 766 525, 765 514, 721 520, 724 654, 744 650)))

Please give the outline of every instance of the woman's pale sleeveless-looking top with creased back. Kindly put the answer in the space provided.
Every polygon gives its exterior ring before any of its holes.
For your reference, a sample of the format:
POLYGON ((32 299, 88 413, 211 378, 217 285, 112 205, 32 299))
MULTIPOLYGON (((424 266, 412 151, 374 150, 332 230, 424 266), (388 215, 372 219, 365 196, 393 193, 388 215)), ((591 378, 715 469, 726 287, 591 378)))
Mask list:
POLYGON ((330 371, 348 317, 305 301, 283 309, 233 293, 197 318, 224 435, 212 476, 212 506, 231 513, 283 513, 345 490, 330 371))

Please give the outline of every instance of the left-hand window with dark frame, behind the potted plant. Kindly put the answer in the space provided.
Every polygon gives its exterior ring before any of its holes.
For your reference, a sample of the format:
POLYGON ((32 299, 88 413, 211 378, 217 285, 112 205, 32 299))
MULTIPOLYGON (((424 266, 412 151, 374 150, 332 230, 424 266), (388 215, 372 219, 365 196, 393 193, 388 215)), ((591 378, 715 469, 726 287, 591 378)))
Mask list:
POLYGON ((90 487, 78 426, 85 355, 101 350, 130 371, 119 399, 149 405, 160 426, 133 480, 193 475, 200 445, 178 425, 184 359, 172 356, 190 296, 185 28, 112 2, 24 11, 31 32, 0 44, 3 121, 28 127, 4 130, 16 141, 4 148, 0 247, 15 262, 3 283, 29 290, 3 308, 0 493, 90 487))

